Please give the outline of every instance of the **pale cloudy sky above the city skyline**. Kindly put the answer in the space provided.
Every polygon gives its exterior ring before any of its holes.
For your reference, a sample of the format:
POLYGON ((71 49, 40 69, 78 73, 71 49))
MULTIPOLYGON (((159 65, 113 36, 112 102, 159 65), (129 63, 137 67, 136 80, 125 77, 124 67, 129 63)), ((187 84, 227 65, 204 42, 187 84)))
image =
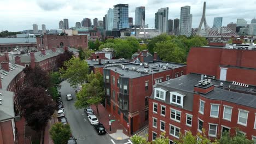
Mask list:
MULTIPOLYGON (((181 7, 185 5, 191 7, 192 27, 198 27, 203 7, 201 0, 0 0, 0 31, 32 29, 33 23, 38 24, 38 29, 42 29, 43 23, 46 29, 56 29, 59 28, 59 21, 65 18, 69 20, 69 27, 85 17, 103 20, 107 10, 119 3, 129 4, 129 17, 133 17, 133 23, 135 8, 145 6, 146 24, 149 27, 154 27, 154 14, 158 9, 168 7, 169 19, 176 19, 180 17, 181 7)), ((213 17, 223 17, 223 26, 236 22, 237 18, 244 18, 247 23, 251 23, 256 17, 255 8, 255 0, 208 0, 206 21, 210 27, 213 25, 213 17)))

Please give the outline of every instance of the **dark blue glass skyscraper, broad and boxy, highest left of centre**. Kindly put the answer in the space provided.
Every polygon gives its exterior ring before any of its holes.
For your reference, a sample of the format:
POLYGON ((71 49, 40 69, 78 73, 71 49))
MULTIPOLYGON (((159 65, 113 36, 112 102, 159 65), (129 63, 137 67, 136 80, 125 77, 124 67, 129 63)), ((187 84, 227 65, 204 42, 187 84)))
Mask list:
POLYGON ((129 5, 117 4, 114 5, 114 29, 122 29, 129 27, 129 5))

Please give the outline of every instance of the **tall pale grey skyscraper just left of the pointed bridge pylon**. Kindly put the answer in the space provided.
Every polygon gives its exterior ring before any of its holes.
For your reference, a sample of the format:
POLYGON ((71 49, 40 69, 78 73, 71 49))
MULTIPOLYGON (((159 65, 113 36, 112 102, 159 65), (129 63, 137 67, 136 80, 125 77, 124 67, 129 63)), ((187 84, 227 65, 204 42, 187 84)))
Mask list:
POLYGON ((191 35, 192 14, 190 6, 181 7, 181 23, 179 24, 180 34, 189 37, 191 35))

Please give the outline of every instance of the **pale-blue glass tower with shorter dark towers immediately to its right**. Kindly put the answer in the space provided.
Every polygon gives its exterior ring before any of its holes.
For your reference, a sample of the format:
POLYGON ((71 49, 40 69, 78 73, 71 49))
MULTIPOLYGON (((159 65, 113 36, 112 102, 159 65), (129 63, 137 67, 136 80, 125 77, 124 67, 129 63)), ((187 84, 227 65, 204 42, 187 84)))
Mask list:
POLYGON ((168 33, 168 12, 169 8, 161 8, 155 13, 155 28, 159 29, 160 33, 168 33))

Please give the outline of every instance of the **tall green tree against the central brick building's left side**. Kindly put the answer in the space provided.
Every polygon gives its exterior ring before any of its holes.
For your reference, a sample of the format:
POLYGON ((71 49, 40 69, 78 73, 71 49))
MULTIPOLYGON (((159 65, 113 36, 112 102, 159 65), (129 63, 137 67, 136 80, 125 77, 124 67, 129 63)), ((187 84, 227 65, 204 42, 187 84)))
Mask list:
POLYGON ((88 75, 88 82, 82 85, 81 91, 77 93, 75 107, 82 109, 90 105, 96 105, 98 113, 98 104, 101 103, 103 96, 103 76, 98 70, 95 74, 91 72, 88 75))

